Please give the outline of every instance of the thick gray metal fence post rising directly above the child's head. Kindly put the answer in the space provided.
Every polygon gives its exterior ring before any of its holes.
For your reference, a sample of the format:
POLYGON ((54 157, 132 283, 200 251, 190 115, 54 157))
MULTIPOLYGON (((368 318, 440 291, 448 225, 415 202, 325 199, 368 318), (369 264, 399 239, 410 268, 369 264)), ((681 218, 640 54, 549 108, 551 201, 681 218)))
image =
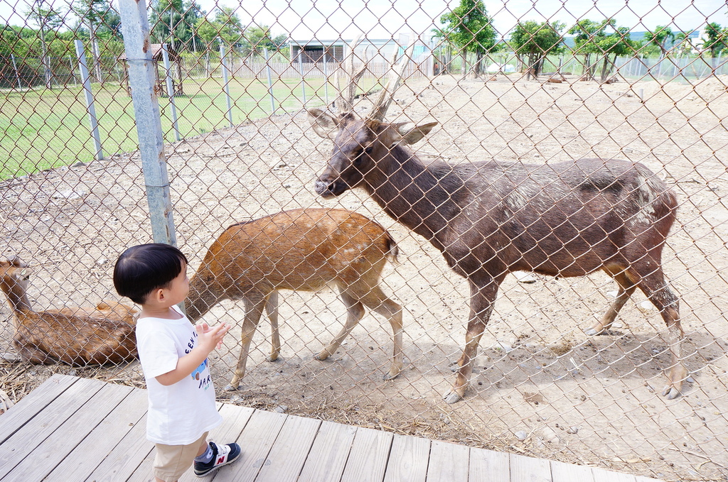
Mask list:
POLYGON ((151 41, 146 0, 119 0, 119 12, 124 25, 124 49, 129 64, 129 86, 139 137, 146 200, 149 203, 151 233, 154 242, 176 246, 162 121, 159 119, 159 100, 154 92, 157 76, 149 48, 151 41))

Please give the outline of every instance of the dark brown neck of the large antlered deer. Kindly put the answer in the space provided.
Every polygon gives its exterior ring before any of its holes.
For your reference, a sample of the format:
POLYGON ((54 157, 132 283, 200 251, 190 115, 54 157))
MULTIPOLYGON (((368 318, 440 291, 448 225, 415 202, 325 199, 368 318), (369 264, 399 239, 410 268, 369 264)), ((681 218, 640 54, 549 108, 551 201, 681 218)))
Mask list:
POLYGON ((446 170, 425 166, 398 146, 384 160, 365 189, 389 216, 442 249, 438 238, 460 211, 456 191, 462 181, 446 170))

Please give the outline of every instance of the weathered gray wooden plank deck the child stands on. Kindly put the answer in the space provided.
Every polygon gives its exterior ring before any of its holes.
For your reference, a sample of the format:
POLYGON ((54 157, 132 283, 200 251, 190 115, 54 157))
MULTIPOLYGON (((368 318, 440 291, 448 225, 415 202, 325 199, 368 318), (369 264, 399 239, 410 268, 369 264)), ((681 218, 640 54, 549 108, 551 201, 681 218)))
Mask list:
MULTIPOLYGON (((54 375, 0 416, 0 481, 149 481, 146 390, 54 375)), ((216 441, 242 458, 181 481, 647 482, 426 438, 220 403, 216 441)))

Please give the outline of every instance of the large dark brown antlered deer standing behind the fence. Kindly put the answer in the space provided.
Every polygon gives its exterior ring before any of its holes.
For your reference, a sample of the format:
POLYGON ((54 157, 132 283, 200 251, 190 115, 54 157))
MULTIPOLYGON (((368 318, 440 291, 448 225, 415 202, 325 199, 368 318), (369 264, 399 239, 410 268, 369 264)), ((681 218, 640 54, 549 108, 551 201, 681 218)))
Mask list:
MULTIPOLYGON (((349 56, 351 57, 351 55, 349 56)), ((349 65, 352 65, 347 60, 349 65)), ((425 165, 405 148, 437 122, 389 124, 384 114, 403 67, 360 119, 353 99, 338 115, 308 110, 314 131, 333 151, 315 182, 324 198, 363 188, 389 216, 426 238, 470 284, 470 321, 448 403, 464 397, 478 342, 507 273, 584 276, 604 270, 619 286, 604 318, 587 334, 604 333, 636 288, 660 310, 672 361, 663 395, 676 398, 687 369, 678 298, 662 273, 662 246, 676 217, 675 195, 646 166, 588 158, 554 164, 481 161, 425 165)), ((352 69, 350 66, 349 69, 352 69)), ((352 71, 352 70, 349 70, 352 71)), ((349 92, 353 92, 351 81, 349 92)))

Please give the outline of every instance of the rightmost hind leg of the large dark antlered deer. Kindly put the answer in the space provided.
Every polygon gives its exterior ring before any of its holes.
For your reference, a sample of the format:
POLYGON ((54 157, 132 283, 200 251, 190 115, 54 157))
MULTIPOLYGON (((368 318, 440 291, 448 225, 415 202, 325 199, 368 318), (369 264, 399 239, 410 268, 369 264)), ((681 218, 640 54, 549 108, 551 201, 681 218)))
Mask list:
POLYGON ((681 360, 681 345, 685 332, 680 325, 678 297, 673 294, 665 282, 665 276, 662 274, 660 265, 657 264, 657 268, 654 268, 655 265, 656 263, 653 262, 643 267, 641 272, 647 272, 648 274, 641 276, 637 286, 644 292, 654 307, 660 311, 662 319, 668 326, 672 361, 670 373, 668 374, 668 385, 665 385, 662 395, 667 395, 668 399, 672 400, 681 395, 682 382, 687 379, 688 374, 681 360))

